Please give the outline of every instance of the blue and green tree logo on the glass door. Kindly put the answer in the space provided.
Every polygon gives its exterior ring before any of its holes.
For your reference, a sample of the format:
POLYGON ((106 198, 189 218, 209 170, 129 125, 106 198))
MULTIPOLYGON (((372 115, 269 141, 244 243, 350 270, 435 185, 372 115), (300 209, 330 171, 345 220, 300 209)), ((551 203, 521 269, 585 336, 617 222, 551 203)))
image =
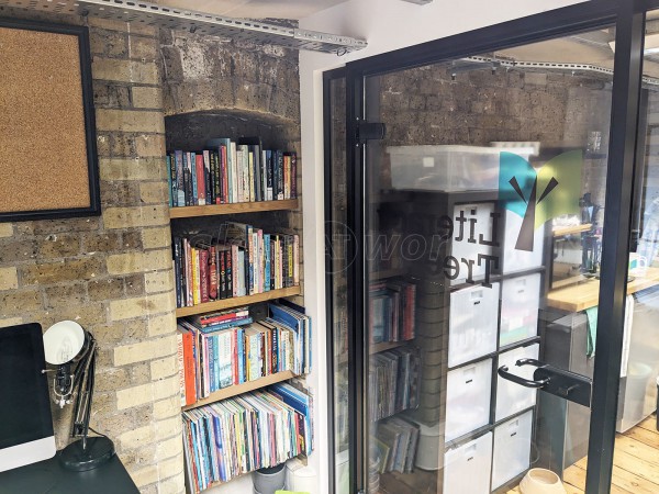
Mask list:
POLYGON ((547 221, 562 214, 579 214, 581 150, 568 151, 547 161, 537 171, 514 153, 501 153, 499 203, 520 215, 517 250, 533 250, 533 234, 547 221))

